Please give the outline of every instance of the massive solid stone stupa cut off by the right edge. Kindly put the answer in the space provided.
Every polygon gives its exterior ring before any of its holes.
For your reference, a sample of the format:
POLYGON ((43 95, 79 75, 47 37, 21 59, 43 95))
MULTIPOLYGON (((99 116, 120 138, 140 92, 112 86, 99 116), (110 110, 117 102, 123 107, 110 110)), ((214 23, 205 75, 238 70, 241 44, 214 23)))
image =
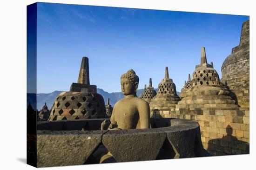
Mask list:
POLYGON ((222 79, 239 106, 249 107, 249 20, 243 23, 240 43, 222 64, 222 79))

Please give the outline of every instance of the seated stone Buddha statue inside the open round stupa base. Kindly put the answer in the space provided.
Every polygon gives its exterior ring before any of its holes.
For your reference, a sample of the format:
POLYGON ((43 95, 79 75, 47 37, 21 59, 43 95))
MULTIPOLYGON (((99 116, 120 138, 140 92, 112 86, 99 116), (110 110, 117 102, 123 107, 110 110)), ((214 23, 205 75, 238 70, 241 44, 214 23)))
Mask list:
POLYGON ((149 128, 149 105, 137 97, 139 77, 133 69, 121 76, 121 91, 124 98, 115 103, 109 120, 101 124, 101 130, 149 128))

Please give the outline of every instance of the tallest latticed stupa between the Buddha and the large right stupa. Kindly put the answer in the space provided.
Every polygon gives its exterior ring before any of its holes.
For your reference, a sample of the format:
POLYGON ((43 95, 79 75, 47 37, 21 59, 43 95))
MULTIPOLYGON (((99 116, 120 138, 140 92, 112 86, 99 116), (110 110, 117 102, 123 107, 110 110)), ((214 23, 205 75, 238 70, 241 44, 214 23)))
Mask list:
POLYGON ((165 76, 158 85, 157 94, 149 103, 150 115, 158 117, 157 115, 168 114, 169 111, 175 109, 175 105, 180 100, 175 83, 169 78, 168 67, 166 67, 165 76))

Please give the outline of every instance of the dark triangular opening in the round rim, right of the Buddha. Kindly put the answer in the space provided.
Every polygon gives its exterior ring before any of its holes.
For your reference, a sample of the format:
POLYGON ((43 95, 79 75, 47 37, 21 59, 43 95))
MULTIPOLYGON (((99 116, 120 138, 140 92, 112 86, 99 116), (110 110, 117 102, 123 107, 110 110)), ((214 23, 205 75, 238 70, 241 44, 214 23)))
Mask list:
POLYGON ((163 142, 163 145, 156 157, 157 160, 159 159, 172 159, 172 158, 178 158, 179 153, 176 151, 175 147, 171 145, 168 138, 165 139, 163 142))

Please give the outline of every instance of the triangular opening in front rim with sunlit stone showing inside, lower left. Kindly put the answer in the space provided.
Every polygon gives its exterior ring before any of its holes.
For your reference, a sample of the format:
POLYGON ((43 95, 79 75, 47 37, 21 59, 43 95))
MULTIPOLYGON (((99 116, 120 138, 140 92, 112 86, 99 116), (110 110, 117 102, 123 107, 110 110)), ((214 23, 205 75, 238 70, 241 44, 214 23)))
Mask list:
POLYGON ((115 163, 115 158, 109 154, 107 155, 107 153, 108 149, 102 143, 100 143, 84 164, 115 163))

